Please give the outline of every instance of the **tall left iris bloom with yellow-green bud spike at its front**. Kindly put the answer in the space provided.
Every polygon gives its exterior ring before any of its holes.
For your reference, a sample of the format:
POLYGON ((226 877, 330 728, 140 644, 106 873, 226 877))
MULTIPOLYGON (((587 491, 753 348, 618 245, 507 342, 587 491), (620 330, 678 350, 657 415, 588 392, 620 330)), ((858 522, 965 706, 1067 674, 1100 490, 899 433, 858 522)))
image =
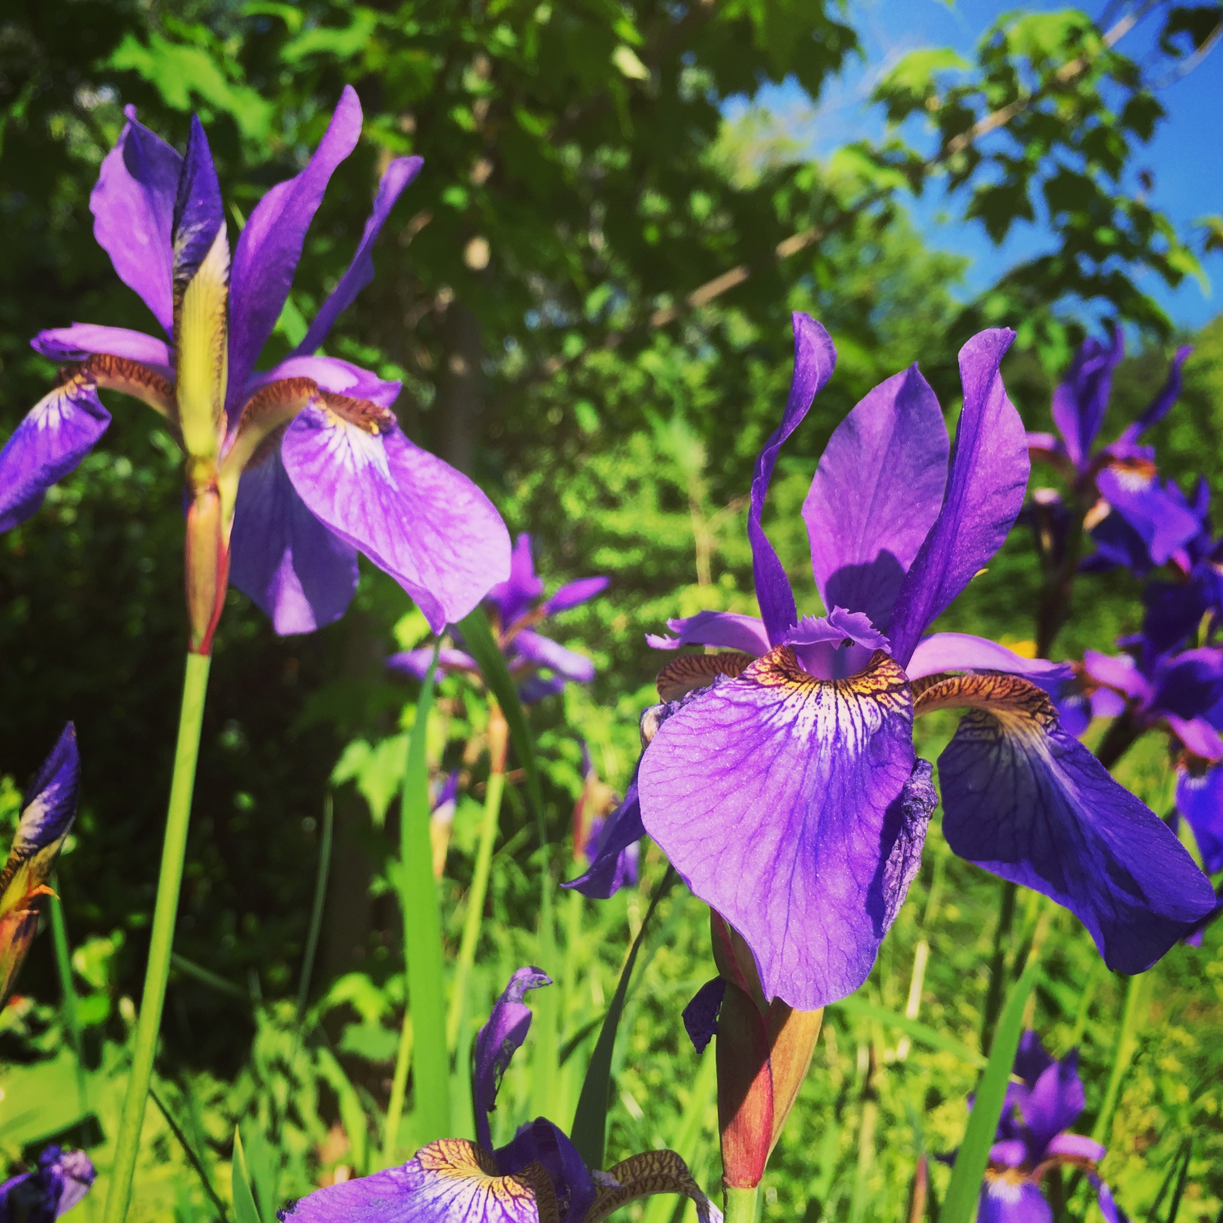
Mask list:
POLYGON ((345 88, 306 168, 251 212, 232 264, 199 120, 181 157, 135 108, 126 114, 91 197, 94 236, 165 335, 75 323, 34 338, 68 364, 0 453, 0 530, 29 517, 81 462, 110 423, 98 391, 120 390, 160 412, 187 456, 193 648, 207 652, 226 575, 278 632, 339 619, 357 587, 358 552, 437 631, 461 619, 509 571, 497 510, 402 433, 391 412, 400 383, 314 355, 373 279, 371 247, 421 159, 390 163, 347 272, 302 342, 260 371, 306 231, 361 135, 355 91, 345 88))

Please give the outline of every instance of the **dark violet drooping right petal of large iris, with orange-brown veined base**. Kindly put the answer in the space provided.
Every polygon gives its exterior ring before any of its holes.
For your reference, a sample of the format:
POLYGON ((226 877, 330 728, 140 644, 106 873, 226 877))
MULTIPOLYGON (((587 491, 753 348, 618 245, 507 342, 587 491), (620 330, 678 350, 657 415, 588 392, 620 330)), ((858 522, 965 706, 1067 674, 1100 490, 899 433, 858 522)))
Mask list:
POLYGON ((943 833, 987 871, 1052 896, 1087 927, 1104 963, 1142 972, 1213 905, 1167 826, 1059 725, 1015 676, 922 691, 918 712, 970 706, 939 757, 943 833))

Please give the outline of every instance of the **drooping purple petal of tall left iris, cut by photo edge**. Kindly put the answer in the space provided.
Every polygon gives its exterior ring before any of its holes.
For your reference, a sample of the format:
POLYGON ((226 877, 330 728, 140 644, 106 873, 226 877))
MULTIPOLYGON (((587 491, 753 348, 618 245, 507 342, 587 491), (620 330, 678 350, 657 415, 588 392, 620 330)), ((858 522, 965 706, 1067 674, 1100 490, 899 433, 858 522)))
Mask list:
POLYGON ((0 531, 24 522, 106 432, 110 413, 91 382, 71 378, 44 395, 0 450, 0 531))

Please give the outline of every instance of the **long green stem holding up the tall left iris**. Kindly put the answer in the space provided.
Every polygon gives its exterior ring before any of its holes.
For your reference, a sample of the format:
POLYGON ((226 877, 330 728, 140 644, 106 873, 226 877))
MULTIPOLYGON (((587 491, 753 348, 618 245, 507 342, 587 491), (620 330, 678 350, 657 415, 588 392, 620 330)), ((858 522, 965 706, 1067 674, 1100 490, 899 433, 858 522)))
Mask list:
POLYGON ((136 1025, 136 1048, 127 1095, 119 1120, 115 1141, 115 1162, 110 1172, 110 1190, 103 1223, 122 1223, 132 1196, 136 1157, 144 1124, 149 1077, 157 1053, 165 983, 170 976, 170 954, 174 949, 174 922, 179 911, 179 889, 182 884, 182 862, 187 852, 187 824, 191 819, 191 796, 196 785, 196 761, 199 757, 199 731, 204 717, 204 695, 208 691, 208 654, 187 654, 187 670, 182 681, 182 709, 179 714, 179 742, 174 751, 174 775, 170 781, 170 805, 165 817, 165 843, 161 846, 161 872, 158 877, 157 904, 153 909, 153 933, 149 939, 149 960, 144 971, 144 993, 136 1025))

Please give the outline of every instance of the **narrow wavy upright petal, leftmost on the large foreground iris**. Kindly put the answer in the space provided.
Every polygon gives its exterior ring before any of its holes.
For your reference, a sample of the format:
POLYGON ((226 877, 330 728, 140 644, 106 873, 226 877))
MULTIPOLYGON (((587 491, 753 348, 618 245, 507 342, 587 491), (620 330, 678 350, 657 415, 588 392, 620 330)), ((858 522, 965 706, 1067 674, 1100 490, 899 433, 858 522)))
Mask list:
POLYGON ((794 377, 790 382, 790 395, 781 423, 756 456, 751 508, 747 512, 747 539, 752 545, 756 599, 761 607, 770 645, 777 645, 781 640, 786 629, 794 626, 799 614, 794 607, 790 580, 785 576, 785 569, 761 526, 764 498, 768 494, 781 443, 802 423, 819 388, 832 378, 837 366, 837 349, 833 346, 832 336, 810 314, 796 311, 791 318, 794 377))

